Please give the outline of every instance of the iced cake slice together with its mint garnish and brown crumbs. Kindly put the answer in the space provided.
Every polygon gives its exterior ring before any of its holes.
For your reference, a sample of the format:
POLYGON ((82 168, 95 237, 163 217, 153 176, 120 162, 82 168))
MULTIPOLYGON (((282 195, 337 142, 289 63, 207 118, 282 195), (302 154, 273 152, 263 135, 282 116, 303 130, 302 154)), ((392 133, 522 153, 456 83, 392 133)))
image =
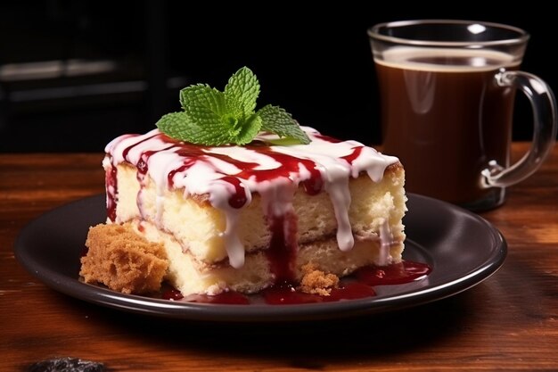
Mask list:
POLYGON ((401 261, 405 173, 397 158, 256 111, 247 68, 223 92, 180 91, 183 112, 106 147, 108 218, 80 275, 125 293, 327 295, 356 269, 401 261), (118 228, 114 228, 114 225, 118 228))

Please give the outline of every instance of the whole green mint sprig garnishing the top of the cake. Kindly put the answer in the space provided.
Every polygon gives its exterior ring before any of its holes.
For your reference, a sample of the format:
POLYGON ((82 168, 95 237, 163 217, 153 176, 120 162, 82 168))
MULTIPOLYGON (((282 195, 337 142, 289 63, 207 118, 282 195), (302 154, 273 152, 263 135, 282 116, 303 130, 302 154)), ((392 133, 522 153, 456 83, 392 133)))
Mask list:
POLYGON ((260 131, 275 133, 277 144, 309 144, 310 139, 281 107, 267 104, 256 111, 259 82, 247 67, 236 71, 221 92, 207 84, 180 91, 183 112, 157 121, 161 132, 197 145, 246 145, 260 131))

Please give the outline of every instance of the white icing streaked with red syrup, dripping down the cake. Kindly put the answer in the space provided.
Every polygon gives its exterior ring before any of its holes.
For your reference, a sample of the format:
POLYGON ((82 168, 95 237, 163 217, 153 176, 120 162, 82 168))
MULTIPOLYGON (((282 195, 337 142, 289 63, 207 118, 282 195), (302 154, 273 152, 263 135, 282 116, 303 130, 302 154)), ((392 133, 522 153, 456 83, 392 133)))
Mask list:
MULTIPOLYGON (((374 182, 382 180, 384 170, 397 158, 376 152, 357 141, 340 141, 301 127, 312 140, 309 145, 266 145, 275 135, 260 134, 250 145, 209 147, 178 142, 158 129, 144 135, 115 138, 106 146, 103 165, 107 174, 107 208, 109 219, 119 222, 113 211, 117 203, 116 167, 129 162, 137 168, 140 191, 137 204, 142 213, 142 193, 147 175, 157 190, 157 223, 166 189, 184 189, 185 197, 207 194, 209 203, 226 215, 222 233, 230 264, 244 263, 244 248, 236 235, 240 209, 251 202, 252 194, 262 196, 264 214, 283 229, 274 228, 279 240, 296 252, 296 234, 292 227, 292 198, 302 185, 308 194, 325 190, 331 198, 337 219, 337 241, 343 251, 354 245, 349 223, 349 178, 365 172, 374 182), (281 231, 283 230, 283 231, 281 231)), ((142 213, 143 215, 143 213, 142 213)), ((384 224, 380 238, 382 251, 389 248, 390 232, 384 224), (383 242, 388 239, 389 242, 383 242)), ((389 254, 389 250, 388 250, 389 254)), ((383 254, 385 256, 385 253, 383 254)), ((382 260, 387 258, 383 257, 382 260)))

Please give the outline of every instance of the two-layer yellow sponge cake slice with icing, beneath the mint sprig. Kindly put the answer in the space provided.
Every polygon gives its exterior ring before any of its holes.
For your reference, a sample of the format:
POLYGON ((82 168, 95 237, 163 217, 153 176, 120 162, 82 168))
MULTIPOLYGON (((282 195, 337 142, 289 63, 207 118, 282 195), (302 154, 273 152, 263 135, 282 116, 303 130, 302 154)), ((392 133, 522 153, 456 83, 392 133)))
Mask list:
MULTIPOLYGON (((136 245, 162 245, 164 280, 184 295, 256 293, 276 283, 298 285, 305 276, 307 287, 316 272, 345 277, 399 262, 406 195, 398 159, 302 129, 308 145, 270 145, 277 136, 266 133, 250 145, 218 147, 177 141, 159 129, 119 136, 103 161, 107 226, 143 236, 136 245)), ((92 259, 102 249, 89 244, 86 282, 129 289, 107 280, 110 273, 92 259)), ((145 288, 154 289, 136 285, 130 292, 145 288)))

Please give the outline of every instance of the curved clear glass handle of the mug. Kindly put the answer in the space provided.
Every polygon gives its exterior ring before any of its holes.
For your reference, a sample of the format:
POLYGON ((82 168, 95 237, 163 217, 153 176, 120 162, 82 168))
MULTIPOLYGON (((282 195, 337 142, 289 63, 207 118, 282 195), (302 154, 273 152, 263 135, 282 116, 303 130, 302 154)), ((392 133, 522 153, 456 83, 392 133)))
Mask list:
POLYGON ((484 187, 505 187, 532 175, 546 159, 556 140, 556 99, 550 87, 537 76, 523 71, 502 70, 495 76, 500 87, 514 87, 527 95, 533 110, 533 142, 529 152, 511 167, 490 161, 483 169, 484 187))

